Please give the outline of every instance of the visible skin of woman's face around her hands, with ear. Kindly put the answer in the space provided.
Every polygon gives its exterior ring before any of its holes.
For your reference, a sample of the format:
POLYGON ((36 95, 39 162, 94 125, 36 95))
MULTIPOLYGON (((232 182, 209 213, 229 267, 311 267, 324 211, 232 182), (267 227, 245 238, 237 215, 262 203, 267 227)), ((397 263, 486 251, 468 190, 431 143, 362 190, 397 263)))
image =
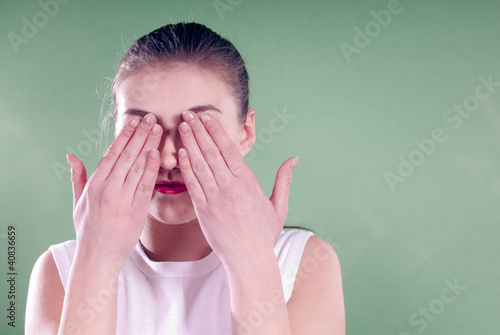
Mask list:
MULTIPOLYGON (((127 77, 116 91, 115 137, 135 115, 154 114, 163 128, 158 147, 160 169, 157 181, 183 182, 177 156, 178 150, 183 147, 178 131, 183 121, 182 112, 209 113, 221 123, 244 156, 255 139, 254 112, 249 109, 247 122, 241 126, 238 107, 227 84, 210 71, 186 64, 148 67, 127 77)), ((148 216, 168 224, 181 224, 196 218, 187 191, 163 194, 153 190, 148 216)))

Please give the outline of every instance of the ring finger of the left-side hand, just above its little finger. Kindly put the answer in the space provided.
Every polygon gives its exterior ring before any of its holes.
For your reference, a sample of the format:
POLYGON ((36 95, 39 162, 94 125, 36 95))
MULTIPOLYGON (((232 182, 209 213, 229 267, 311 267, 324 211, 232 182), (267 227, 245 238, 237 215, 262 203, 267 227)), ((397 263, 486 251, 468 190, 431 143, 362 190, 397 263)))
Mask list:
MULTIPOLYGON (((132 196, 136 192, 137 184, 141 180, 142 176, 145 173, 146 165, 148 162, 148 157, 150 155, 151 149, 158 148, 161 140, 162 128, 159 124, 155 124, 153 129, 149 133, 149 136, 146 140, 146 144, 142 148, 139 157, 135 160, 134 164, 130 168, 130 171, 127 174, 127 178, 122 187, 122 191, 125 194, 131 194, 132 196)), ((155 177, 156 178, 156 177, 155 177)))

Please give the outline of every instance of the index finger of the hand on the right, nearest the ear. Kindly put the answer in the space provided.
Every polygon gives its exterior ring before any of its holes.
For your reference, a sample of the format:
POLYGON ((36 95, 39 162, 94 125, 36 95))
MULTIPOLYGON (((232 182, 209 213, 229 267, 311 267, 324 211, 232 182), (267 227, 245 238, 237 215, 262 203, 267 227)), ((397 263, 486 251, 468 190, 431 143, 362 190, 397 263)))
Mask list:
POLYGON ((202 118, 203 123, 217 145, 229 171, 236 177, 242 177, 251 172, 245 159, 238 151, 236 144, 226 133, 220 122, 216 118, 210 117, 207 113, 202 113, 202 115, 208 116, 208 118, 204 117, 205 120, 202 118))

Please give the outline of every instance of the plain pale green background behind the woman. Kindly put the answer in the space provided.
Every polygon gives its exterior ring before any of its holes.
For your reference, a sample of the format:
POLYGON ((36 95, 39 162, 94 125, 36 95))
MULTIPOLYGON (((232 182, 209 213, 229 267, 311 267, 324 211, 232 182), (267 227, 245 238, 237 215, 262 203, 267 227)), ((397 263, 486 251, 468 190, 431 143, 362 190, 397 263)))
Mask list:
POLYGON ((370 11, 387 1, 221 2, 224 13, 213 1, 72 0, 15 52, 8 34, 21 35, 23 17, 33 22, 43 9, 0 1, 0 333, 23 333, 34 262, 74 238, 65 155, 89 176, 97 166, 101 149, 84 132, 99 129, 107 78, 136 38, 196 21, 247 62, 261 148, 247 161, 268 195, 278 167, 300 157, 288 224, 315 229, 337 251, 347 333, 498 334, 500 87, 456 129, 443 115, 472 101, 480 76, 500 81, 500 2, 402 0, 379 31, 370 11), (372 37, 349 62, 340 46, 356 46, 355 28, 367 24, 372 37), (278 111, 295 117, 270 131, 278 111), (419 158, 415 141, 436 128, 446 140, 391 189, 386 171, 398 173, 400 155, 419 158), (9 225, 14 329, 5 317, 9 225), (446 280, 466 287, 450 303, 446 280))

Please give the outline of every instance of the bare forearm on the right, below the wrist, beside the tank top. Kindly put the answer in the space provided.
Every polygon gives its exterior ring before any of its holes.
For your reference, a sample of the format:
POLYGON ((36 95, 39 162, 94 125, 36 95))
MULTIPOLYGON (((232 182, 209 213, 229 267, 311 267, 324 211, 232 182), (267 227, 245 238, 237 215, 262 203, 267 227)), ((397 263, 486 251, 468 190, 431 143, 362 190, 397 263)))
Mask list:
POLYGON ((227 266, 233 335, 291 334, 278 261, 273 250, 227 266))

